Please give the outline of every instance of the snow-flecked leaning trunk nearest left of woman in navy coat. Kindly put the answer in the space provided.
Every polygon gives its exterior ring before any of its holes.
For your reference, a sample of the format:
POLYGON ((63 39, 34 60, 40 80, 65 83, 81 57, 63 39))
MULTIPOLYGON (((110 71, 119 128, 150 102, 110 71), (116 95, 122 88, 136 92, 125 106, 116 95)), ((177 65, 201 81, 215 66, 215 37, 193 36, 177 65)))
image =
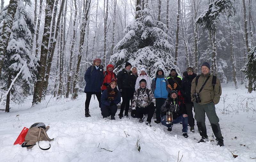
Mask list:
POLYGON ((73 94, 72 94, 73 100, 75 100, 78 96, 79 68, 80 68, 80 63, 83 55, 85 27, 87 25, 90 6, 91 6, 91 0, 86 0, 86 3, 84 5, 84 13, 83 13, 81 32, 80 32, 80 43, 79 43, 79 53, 78 53, 78 60, 77 60, 77 66, 76 66, 76 74, 73 82, 73 94))

